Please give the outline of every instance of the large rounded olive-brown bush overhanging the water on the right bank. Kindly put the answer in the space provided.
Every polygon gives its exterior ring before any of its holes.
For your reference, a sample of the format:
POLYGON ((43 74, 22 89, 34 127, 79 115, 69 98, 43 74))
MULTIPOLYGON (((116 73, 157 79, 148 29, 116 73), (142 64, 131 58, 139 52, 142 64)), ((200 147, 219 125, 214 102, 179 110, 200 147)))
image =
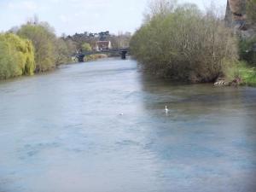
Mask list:
POLYGON ((195 5, 171 7, 164 14, 154 12, 135 33, 132 55, 163 78, 196 83, 223 75, 224 61, 236 60, 236 39, 218 18, 202 15, 195 5))

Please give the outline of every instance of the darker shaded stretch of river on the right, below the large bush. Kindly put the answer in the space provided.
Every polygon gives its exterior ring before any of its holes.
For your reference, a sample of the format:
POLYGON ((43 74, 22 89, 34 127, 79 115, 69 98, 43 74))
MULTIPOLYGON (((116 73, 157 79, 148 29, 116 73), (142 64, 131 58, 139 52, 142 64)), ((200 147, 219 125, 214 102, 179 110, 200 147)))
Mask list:
POLYGON ((152 134, 159 137, 152 148, 165 165, 161 176, 174 191, 188 190, 184 181, 189 191, 198 191, 198 186, 202 191, 236 191, 237 177, 244 191, 255 189, 254 89, 180 85, 147 76, 142 83, 146 111, 155 117, 166 104, 170 109, 166 118, 154 119, 152 134), (222 179, 224 188, 219 186, 222 179))

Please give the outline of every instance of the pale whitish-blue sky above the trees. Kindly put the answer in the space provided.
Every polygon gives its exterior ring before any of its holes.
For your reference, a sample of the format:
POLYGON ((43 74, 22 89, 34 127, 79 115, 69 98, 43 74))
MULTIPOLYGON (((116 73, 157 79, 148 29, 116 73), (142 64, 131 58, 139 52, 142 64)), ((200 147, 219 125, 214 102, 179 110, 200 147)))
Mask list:
MULTIPOLYGON (((204 9, 210 0, 180 0, 204 9)), ((215 0, 224 8, 226 0, 215 0)), ((143 21, 148 0, 0 0, 0 32, 38 15, 61 35, 75 32, 134 32, 143 21)))

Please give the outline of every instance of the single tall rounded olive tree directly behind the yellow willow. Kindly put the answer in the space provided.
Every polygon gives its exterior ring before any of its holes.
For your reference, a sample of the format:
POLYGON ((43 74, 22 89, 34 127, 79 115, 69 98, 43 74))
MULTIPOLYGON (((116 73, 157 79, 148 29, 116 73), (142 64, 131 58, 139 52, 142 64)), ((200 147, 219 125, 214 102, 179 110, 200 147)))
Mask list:
POLYGON ((20 27, 17 34, 32 40, 36 56, 36 72, 44 72, 55 68, 55 34, 47 25, 26 24, 20 27))

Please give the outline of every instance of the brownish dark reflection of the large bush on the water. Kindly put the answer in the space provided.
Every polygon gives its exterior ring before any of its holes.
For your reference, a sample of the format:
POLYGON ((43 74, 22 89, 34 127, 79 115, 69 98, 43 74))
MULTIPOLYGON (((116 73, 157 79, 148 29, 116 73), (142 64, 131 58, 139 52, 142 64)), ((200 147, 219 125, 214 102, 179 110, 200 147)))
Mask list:
MULTIPOLYGON (((229 114, 242 111, 247 105, 247 95, 255 94, 243 87, 213 87, 212 84, 174 84, 168 80, 142 75, 143 104, 147 109, 168 108, 175 113, 204 115, 229 114)), ((251 99, 255 98, 249 96, 251 99)), ((254 99, 256 100, 256 99, 254 99)), ((255 102, 255 101, 254 101, 255 102)))

